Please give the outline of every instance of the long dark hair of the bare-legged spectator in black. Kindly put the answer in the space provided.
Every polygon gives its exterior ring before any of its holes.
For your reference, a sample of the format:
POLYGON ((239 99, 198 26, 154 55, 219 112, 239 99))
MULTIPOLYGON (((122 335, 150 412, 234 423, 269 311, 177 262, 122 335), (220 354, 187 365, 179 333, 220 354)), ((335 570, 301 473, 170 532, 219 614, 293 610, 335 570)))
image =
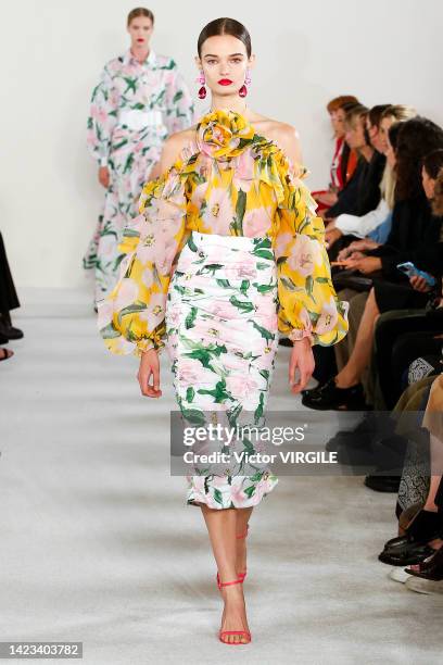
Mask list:
POLYGON ((395 150, 397 174, 395 199, 405 201, 422 196, 422 159, 429 152, 443 148, 443 129, 420 115, 401 125, 395 150))

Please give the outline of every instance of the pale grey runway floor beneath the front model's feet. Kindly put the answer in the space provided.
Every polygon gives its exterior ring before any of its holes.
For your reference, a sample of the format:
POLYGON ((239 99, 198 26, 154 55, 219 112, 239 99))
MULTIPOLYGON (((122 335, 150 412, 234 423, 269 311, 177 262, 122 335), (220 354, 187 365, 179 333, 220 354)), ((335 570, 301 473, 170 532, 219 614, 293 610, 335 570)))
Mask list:
MULTIPOLYGON (((251 519, 253 641, 218 642, 207 534, 169 475, 166 359, 164 397, 142 398, 137 360, 105 351, 84 292, 22 302, 25 339, 0 365, 1 640, 78 640, 87 665, 442 662, 442 597, 388 579, 395 495, 358 477, 280 478, 251 519)), ((270 409, 298 404, 288 357, 270 409)))

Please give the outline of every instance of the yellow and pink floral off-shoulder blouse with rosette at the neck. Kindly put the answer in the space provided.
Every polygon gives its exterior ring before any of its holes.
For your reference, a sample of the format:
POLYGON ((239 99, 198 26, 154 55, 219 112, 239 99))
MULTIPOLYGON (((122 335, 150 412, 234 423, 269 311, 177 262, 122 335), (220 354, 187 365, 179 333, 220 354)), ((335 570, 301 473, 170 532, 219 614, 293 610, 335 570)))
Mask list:
POLYGON ((322 346, 339 342, 347 331, 347 303, 332 286, 324 223, 305 174, 239 113, 204 115, 174 165, 144 185, 140 215, 125 229, 119 279, 99 303, 107 349, 136 355, 163 349, 167 290, 192 230, 269 237, 280 332, 322 346))

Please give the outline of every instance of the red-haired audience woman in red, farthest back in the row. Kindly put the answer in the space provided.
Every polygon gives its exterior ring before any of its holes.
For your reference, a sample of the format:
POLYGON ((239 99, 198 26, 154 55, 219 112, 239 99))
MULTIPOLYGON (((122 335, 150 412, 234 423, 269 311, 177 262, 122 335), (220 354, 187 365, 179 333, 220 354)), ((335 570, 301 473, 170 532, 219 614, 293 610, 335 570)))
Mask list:
POLYGON ((351 179, 357 165, 357 154, 352 151, 344 140, 344 120, 345 108, 358 104, 358 100, 353 95, 341 95, 331 99, 327 105, 333 135, 336 138, 334 152, 330 168, 330 184, 327 190, 313 191, 312 195, 318 203, 317 212, 328 209, 337 201, 337 192, 341 191, 351 179))

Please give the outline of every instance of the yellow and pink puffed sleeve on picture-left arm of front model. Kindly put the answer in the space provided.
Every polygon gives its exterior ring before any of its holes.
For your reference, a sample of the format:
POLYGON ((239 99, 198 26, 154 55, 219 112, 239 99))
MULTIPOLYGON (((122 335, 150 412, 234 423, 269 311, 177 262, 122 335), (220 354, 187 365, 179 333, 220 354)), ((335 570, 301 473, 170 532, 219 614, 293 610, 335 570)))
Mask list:
POLYGON ((187 198, 177 165, 144 185, 139 211, 118 248, 126 255, 117 284, 98 303, 100 334, 109 351, 118 355, 139 356, 165 346, 167 290, 187 238, 187 198))

